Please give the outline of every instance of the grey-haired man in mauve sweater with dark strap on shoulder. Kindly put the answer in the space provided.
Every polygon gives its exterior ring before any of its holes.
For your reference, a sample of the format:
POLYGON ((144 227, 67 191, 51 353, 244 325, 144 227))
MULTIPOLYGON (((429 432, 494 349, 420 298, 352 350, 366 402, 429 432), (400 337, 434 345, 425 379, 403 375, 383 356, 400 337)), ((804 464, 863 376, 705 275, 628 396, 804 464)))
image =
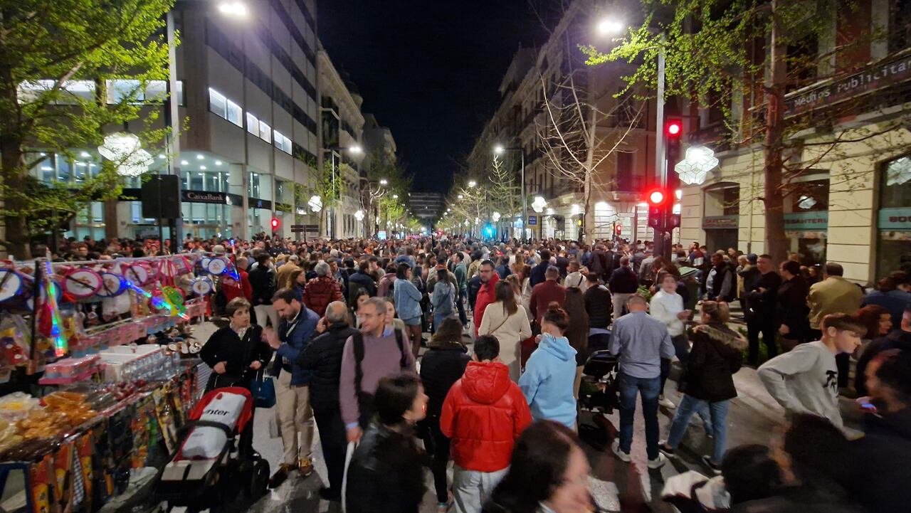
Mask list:
POLYGON ((415 356, 404 344, 402 332, 386 327, 386 300, 368 299, 358 310, 358 318, 361 333, 349 337, 344 344, 339 380, 339 405, 349 442, 361 438, 374 415, 374 392, 380 378, 402 371, 415 372, 415 356))

